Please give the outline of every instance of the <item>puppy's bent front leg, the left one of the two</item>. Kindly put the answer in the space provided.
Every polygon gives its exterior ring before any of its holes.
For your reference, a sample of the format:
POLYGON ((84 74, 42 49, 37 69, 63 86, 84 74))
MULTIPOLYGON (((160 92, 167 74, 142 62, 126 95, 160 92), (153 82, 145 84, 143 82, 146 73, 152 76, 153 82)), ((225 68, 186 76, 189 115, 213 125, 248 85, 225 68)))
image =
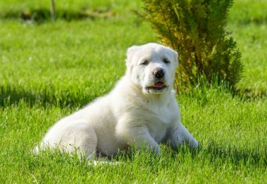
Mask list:
POLYGON ((127 145, 136 145, 138 149, 142 146, 147 147, 157 155, 160 153, 160 147, 145 126, 117 126, 117 138, 127 145))

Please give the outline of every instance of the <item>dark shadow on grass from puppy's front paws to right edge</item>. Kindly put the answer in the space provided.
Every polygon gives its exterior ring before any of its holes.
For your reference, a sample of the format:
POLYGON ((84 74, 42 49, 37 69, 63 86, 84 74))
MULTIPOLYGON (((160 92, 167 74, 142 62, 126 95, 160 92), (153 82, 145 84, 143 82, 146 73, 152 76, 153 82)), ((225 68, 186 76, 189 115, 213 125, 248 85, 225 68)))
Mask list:
POLYGON ((161 145, 162 154, 155 155, 153 152, 135 148, 128 152, 123 152, 117 157, 112 158, 115 161, 128 160, 133 162, 140 157, 145 157, 143 162, 160 162, 162 159, 176 160, 178 163, 187 162, 188 159, 192 159, 195 162, 202 162, 201 160, 208 160, 210 163, 232 163, 234 165, 252 165, 259 166, 263 164, 267 166, 267 149, 260 150, 260 147, 256 147, 254 150, 250 148, 241 148, 233 145, 219 145, 211 141, 207 146, 199 146, 195 149, 189 147, 189 145, 183 145, 177 147, 175 150, 169 145, 161 145))

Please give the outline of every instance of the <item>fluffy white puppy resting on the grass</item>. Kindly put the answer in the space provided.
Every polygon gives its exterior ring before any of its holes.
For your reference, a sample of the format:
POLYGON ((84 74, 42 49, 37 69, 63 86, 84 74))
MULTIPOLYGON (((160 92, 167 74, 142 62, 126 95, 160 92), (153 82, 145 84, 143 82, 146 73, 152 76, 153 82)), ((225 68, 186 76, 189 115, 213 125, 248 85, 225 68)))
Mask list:
POLYGON ((197 147, 197 140, 181 124, 173 89, 177 65, 177 53, 167 46, 130 47, 126 74, 115 88, 60 119, 34 151, 58 147, 94 158, 97 153, 115 156, 131 145, 146 145, 158 154, 159 143, 167 141, 172 147, 184 142, 197 147))

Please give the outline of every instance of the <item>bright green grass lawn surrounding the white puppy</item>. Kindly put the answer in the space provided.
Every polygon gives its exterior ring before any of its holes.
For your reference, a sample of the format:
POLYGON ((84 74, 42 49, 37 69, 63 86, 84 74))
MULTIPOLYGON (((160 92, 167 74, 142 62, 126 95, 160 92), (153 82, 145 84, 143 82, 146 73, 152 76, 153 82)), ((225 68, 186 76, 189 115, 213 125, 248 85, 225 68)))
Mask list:
POLYGON ((196 88, 177 96, 200 149, 162 145, 159 157, 143 150, 101 166, 62 153, 32 155, 60 117, 111 90, 124 74, 126 48, 159 42, 133 13, 141 6, 56 1, 60 12, 85 7, 92 16, 33 23, 15 16, 49 1, 0 2, 0 183, 267 183, 266 0, 236 0, 228 18, 245 65, 240 94, 196 88))

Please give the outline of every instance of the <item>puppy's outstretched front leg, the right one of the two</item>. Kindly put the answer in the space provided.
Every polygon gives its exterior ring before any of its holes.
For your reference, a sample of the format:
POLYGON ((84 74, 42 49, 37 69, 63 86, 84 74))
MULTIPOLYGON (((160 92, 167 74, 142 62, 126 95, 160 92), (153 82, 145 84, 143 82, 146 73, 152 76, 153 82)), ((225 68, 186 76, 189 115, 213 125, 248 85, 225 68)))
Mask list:
POLYGON ((190 147, 198 146, 197 140, 195 140, 185 126, 183 126, 181 121, 178 121, 178 124, 172 128, 169 138, 171 140, 171 146, 174 148, 183 143, 188 143, 190 147))

